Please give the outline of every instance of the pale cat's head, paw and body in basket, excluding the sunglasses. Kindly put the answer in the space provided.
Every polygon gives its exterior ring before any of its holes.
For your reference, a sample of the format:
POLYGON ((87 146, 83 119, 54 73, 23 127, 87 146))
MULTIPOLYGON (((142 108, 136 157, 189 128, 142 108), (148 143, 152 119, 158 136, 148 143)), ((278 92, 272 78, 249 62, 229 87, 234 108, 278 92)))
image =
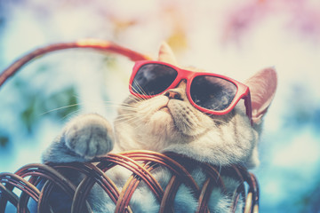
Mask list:
MULTIPOLYGON (((178 67, 167 43, 162 43, 158 61, 178 67)), ((194 67, 186 69, 203 71, 194 67)), ((228 114, 201 112, 189 102, 186 81, 181 81, 175 88, 150 99, 131 94, 118 108, 114 125, 99 114, 78 115, 44 151, 43 162, 89 162, 108 153, 143 149, 183 154, 216 166, 237 164, 247 169, 255 168, 260 163, 258 142, 263 116, 276 92, 276 71, 272 67, 263 69, 245 84, 251 91, 252 121, 245 114, 241 101, 228 114)), ((198 185, 203 184, 205 177, 200 169, 192 170, 191 174, 198 185)), ((64 175, 76 184, 79 182, 78 174, 65 171, 64 175)), ((108 172, 116 184, 124 182, 128 175, 122 170, 108 172)), ((154 175, 162 186, 171 177, 165 169, 156 170, 154 175)), ((238 184, 231 179, 226 181, 229 192, 233 192, 238 184)), ((63 203, 57 207, 58 212, 69 211, 65 200, 52 200, 63 203)), ((113 212, 115 209, 115 204, 96 185, 92 188, 90 203, 94 212, 113 212)), ((230 199, 217 189, 213 190, 210 203, 211 212, 228 212, 230 199)), ((154 195, 143 184, 133 194, 130 205, 133 212, 157 212, 159 208, 154 195)), ((181 185, 174 204, 175 212, 195 212, 196 205, 188 187, 181 185)))

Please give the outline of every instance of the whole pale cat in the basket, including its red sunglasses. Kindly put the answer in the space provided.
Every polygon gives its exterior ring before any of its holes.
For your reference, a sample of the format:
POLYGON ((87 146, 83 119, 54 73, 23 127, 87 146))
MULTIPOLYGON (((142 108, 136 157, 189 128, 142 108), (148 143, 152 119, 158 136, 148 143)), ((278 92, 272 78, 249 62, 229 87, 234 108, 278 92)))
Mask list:
MULTIPOLYGON (((252 169, 259 165, 262 117, 276 92, 273 68, 261 70, 245 83, 250 93, 239 91, 245 86, 228 77, 205 75, 194 67, 181 69, 171 48, 163 43, 157 61, 138 62, 133 72, 132 94, 118 108, 114 125, 99 114, 77 116, 46 149, 43 161, 88 162, 109 152, 143 149, 183 154, 217 166, 238 164, 252 169), (216 79, 222 80, 214 82, 216 79)), ((79 182, 79 174, 64 173, 79 182)), ((191 174, 198 185, 203 185, 205 177, 200 169, 191 174)), ((119 187, 129 175, 121 169, 108 173, 119 187)), ((171 173, 159 169, 155 177, 165 187, 171 173)), ((231 179, 225 183, 229 192, 239 184, 231 179)), ((52 196, 58 212, 70 211, 66 199, 63 195, 52 196)), ((115 204, 98 185, 92 188, 89 202, 94 212, 115 210, 115 204)), ((143 184, 130 202, 133 212, 157 212, 159 205, 143 184)), ((174 201, 175 212, 195 212, 196 205, 191 191, 181 185, 174 201)), ((220 189, 213 190, 211 212, 228 212, 229 206, 230 197, 220 189)))

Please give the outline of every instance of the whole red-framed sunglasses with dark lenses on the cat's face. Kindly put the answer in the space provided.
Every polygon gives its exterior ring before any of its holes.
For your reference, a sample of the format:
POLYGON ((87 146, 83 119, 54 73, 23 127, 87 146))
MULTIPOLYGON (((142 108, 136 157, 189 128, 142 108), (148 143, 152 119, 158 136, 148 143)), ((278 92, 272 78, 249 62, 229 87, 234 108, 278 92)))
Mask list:
POLYGON ((246 114, 252 121, 249 87, 227 76, 194 72, 161 61, 140 60, 133 67, 129 90, 132 95, 150 99, 187 81, 187 97, 192 106, 206 114, 228 114, 244 99, 246 114))

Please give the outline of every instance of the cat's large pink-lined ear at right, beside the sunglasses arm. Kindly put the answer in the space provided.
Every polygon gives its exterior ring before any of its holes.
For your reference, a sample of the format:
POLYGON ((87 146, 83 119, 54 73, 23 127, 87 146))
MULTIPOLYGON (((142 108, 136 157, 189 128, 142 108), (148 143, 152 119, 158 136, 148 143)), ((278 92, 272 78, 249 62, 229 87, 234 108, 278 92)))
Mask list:
POLYGON ((252 122, 259 124, 276 93, 276 70, 268 67, 246 81, 252 99, 252 122))

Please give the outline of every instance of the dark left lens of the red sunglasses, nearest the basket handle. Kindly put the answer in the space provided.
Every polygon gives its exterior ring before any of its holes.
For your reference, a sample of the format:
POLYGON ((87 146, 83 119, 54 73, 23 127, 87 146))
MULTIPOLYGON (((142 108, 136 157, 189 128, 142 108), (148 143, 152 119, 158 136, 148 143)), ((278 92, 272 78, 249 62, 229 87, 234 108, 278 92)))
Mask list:
POLYGON ((177 77, 172 67, 146 64, 139 68, 132 82, 132 91, 140 95, 157 95, 167 89, 177 77))

